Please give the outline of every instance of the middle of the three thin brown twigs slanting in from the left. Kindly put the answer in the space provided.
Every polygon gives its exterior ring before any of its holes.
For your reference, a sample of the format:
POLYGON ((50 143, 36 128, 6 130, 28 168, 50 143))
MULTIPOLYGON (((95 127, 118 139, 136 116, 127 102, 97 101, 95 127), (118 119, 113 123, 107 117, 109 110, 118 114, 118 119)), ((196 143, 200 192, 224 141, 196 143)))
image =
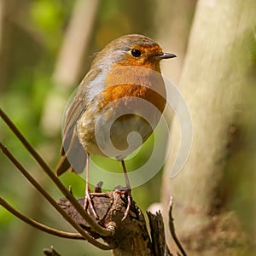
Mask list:
POLYGON ((63 218, 65 218, 67 220, 67 222, 69 224, 71 224, 73 226, 73 228, 75 230, 78 230, 79 233, 84 236, 84 239, 89 241, 91 244, 93 244, 96 247, 102 248, 103 250, 109 250, 111 249, 111 247, 102 244, 99 241, 96 241, 94 238, 92 238, 90 235, 88 235, 85 230, 83 230, 79 224, 77 224, 73 218, 70 218, 67 214, 67 212, 65 212, 59 205, 58 203, 41 187, 41 185, 26 171, 26 169, 20 165, 20 162, 18 160, 15 159, 15 156, 13 154, 11 154, 9 152, 9 149, 6 148, 1 142, 0 142, 0 148, 3 151, 3 154, 5 154, 9 160, 11 160, 11 162, 17 167, 17 169, 26 177, 26 179, 32 183, 32 185, 38 189, 38 191, 44 196, 44 198, 49 201, 49 203, 55 207, 55 209, 61 213, 61 215, 63 216, 63 218))

